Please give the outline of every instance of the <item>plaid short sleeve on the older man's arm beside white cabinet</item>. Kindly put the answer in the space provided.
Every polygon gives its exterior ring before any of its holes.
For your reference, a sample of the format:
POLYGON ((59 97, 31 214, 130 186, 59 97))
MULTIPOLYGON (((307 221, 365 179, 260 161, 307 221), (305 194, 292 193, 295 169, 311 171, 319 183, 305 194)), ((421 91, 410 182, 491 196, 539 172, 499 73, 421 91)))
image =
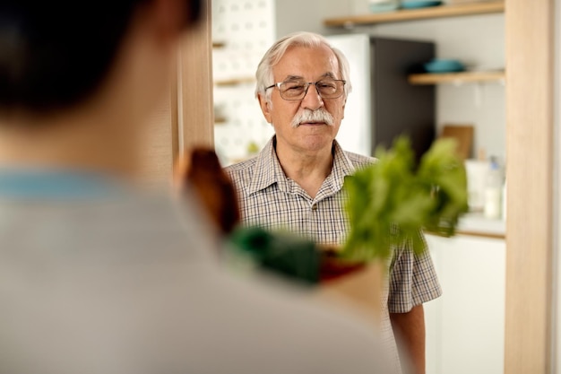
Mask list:
MULTIPOLYGON (((422 236, 422 233, 419 235, 422 236)), ((416 255, 408 246, 396 249, 389 278, 390 313, 407 313, 413 307, 434 300, 442 294, 427 247, 420 255, 416 255)))

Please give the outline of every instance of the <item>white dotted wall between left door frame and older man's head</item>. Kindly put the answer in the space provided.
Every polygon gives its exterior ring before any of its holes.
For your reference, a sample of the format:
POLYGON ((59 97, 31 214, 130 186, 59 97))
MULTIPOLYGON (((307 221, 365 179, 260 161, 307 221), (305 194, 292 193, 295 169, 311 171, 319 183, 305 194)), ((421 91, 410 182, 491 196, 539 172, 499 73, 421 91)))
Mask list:
MULTIPOLYGON (((255 69, 274 41, 274 0, 213 0, 212 40, 224 44, 213 49, 215 82, 255 77, 255 69)), ((215 85, 216 151, 224 165, 245 159, 250 144, 261 148, 272 128, 263 118, 254 96, 255 83, 215 85)))

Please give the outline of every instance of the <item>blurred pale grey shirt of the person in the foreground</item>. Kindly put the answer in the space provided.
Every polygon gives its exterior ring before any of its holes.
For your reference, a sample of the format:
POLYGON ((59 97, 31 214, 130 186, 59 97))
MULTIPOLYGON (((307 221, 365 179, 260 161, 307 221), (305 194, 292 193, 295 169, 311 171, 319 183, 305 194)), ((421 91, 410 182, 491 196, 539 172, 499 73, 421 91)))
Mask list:
POLYGON ((0 372, 388 372, 365 326, 226 272, 193 205, 123 192, 3 198, 0 175, 0 372))

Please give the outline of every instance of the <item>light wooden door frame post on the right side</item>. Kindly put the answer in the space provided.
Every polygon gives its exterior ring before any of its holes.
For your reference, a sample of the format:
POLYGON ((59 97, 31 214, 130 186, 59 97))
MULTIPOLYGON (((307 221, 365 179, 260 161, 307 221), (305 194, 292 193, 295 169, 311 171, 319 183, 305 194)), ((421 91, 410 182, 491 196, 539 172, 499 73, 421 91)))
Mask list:
POLYGON ((555 0, 505 0, 505 373, 554 368, 555 0))

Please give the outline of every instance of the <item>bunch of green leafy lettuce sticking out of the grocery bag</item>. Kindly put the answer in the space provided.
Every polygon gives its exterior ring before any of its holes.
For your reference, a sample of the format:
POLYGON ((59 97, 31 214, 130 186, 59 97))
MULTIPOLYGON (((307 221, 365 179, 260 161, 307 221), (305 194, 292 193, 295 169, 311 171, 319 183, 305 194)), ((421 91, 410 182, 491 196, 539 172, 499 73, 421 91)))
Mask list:
POLYGON ((347 178, 350 233, 341 257, 387 258, 393 248, 426 249, 422 230, 452 236, 467 212, 466 174, 451 139, 437 140, 415 170, 410 141, 376 150, 375 164, 347 178))

